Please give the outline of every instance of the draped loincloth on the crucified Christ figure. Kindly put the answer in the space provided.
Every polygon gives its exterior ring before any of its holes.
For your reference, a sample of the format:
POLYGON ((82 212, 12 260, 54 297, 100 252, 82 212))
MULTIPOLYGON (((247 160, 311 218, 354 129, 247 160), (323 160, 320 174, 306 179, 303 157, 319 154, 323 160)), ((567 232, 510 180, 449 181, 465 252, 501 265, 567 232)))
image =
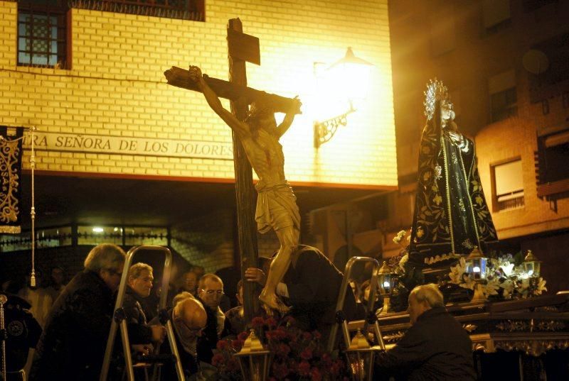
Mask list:
POLYGON ((277 231, 288 226, 300 230, 297 197, 287 180, 272 185, 259 182, 255 189, 258 192, 255 221, 260 233, 267 233, 271 229, 277 231))

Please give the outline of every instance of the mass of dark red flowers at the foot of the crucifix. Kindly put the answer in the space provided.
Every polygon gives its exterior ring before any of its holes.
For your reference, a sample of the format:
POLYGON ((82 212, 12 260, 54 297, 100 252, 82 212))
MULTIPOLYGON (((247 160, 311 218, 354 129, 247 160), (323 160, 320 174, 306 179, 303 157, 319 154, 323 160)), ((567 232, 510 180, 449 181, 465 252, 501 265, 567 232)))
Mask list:
MULTIPOLYGON (((274 356, 269 372, 270 381, 349 380, 344 359, 324 350, 318 331, 302 331, 290 316, 281 321, 257 316, 251 324, 257 337, 274 356)), ((247 336, 247 332, 242 332, 233 340, 218 341, 212 364, 218 368, 222 380, 241 380, 239 365, 233 354, 243 347, 247 336)))

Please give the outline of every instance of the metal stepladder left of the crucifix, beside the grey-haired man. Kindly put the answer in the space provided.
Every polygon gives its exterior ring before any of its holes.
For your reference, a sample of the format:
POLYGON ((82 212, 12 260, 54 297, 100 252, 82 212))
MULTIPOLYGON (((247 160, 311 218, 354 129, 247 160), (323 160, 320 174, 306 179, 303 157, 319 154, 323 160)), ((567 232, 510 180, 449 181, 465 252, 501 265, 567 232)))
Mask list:
MULTIPOLYGON (((171 360, 174 360, 176 365, 176 375, 178 376, 178 380, 182 381, 185 380, 184 377, 184 370, 182 368, 180 362, 180 356, 178 353, 178 347, 176 346, 176 339, 174 338, 174 330, 172 328, 172 323, 168 319, 168 314, 166 313, 166 298, 168 296, 168 285, 170 281, 170 267, 172 262, 172 253, 170 252, 169 248, 165 248, 164 246, 157 246, 157 245, 142 245, 142 246, 135 246, 129 250, 127 253, 127 258, 124 260, 124 267, 122 270, 122 277, 120 280, 119 291, 117 294, 117 302, 115 303, 115 313, 113 314, 113 319, 111 322, 111 328, 109 332, 109 338, 107 339, 107 350, 105 350, 105 358, 103 358, 102 369, 100 374, 100 381, 107 381, 107 376, 109 375, 109 368, 112 358, 112 352, 115 348, 115 338, 117 336, 117 328, 120 327, 120 335, 122 338, 122 351, 124 353, 124 363, 127 373, 127 380, 134 381, 134 368, 132 363, 132 354, 130 352, 130 342, 129 342, 129 335, 127 330, 127 320, 124 314, 124 309, 122 308, 122 304, 124 302, 124 293, 127 289, 127 282, 128 282, 128 270, 132 263, 132 258, 134 254, 137 253, 139 250, 155 250, 161 251, 164 253, 164 272, 162 275, 162 292, 160 294, 159 300, 159 316, 161 324, 164 324, 166 327, 166 336, 168 338, 168 342, 171 348, 171 360)), ((154 372, 152 375, 152 380, 157 380, 159 367, 156 365, 164 360, 164 355, 159 355, 160 347, 156 346, 154 348, 154 355, 149 355, 147 360, 144 360, 145 363, 154 363, 154 372)))

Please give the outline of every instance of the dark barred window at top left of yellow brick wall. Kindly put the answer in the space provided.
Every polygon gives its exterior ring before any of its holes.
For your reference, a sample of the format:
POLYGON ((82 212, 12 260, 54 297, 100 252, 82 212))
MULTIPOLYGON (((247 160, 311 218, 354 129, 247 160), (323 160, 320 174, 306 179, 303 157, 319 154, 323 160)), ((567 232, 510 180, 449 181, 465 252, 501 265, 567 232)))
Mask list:
POLYGON ((68 67, 67 6, 62 1, 18 2, 18 65, 68 67))

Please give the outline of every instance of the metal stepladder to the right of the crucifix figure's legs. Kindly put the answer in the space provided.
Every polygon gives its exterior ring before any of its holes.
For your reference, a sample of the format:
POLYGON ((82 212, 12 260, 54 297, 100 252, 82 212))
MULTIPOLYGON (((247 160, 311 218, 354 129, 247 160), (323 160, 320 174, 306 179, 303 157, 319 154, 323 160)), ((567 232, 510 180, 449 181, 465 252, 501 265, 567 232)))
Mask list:
POLYGON ((368 331, 369 326, 373 326, 373 333, 375 333, 376 340, 378 341, 378 346, 381 349, 385 349, 385 343, 383 343, 383 336, 381 335, 381 329, 379 328, 378 324, 378 317, 376 316, 375 311, 373 311, 373 304, 376 301, 376 293, 378 291, 379 283, 378 283, 378 272, 379 272, 379 263, 377 260, 369 257, 352 257, 349 259, 348 263, 346 263, 346 270, 344 271, 344 278, 342 279, 342 284, 340 287, 340 294, 338 295, 338 302, 336 303, 336 322, 332 326, 330 331, 330 336, 328 339, 328 347, 327 350, 332 352, 334 347, 336 346, 336 335, 338 333, 338 326, 341 326, 342 333, 344 336, 344 344, 346 348, 350 346, 350 331, 348 327, 349 321, 346 319, 346 314, 344 313, 344 302, 346 301, 346 290, 348 289, 349 280, 351 279, 352 275, 352 267, 355 263, 363 262, 363 263, 371 263, 373 265, 373 270, 371 271, 371 280, 370 280, 370 292, 369 292, 369 299, 368 305, 366 307, 366 319, 363 323, 363 329, 361 330, 365 335, 368 331))

